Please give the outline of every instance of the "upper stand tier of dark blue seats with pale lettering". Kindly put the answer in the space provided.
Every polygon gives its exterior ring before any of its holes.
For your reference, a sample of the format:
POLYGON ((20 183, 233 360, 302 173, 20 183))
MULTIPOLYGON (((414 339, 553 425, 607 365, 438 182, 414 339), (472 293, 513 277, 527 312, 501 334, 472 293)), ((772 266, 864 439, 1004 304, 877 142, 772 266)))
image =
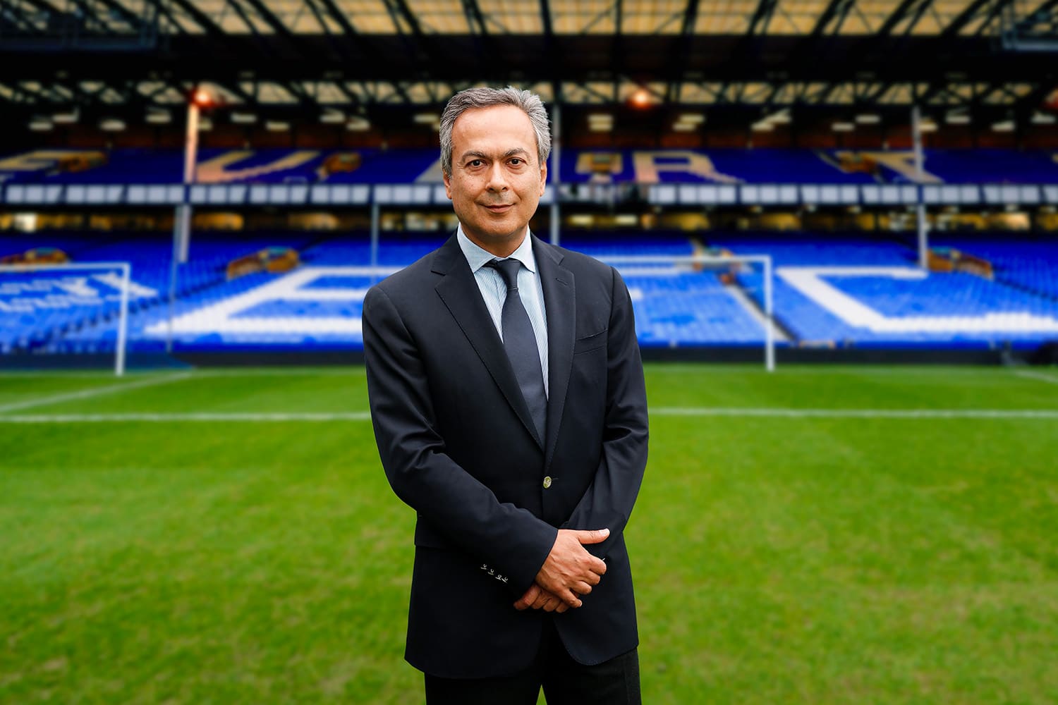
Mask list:
MULTIPOLYGON (((584 183, 1055 184, 1050 151, 642 149, 564 150, 561 179, 584 183)), ((552 174, 553 177, 553 165, 552 174)), ((179 184, 183 153, 40 149, 0 156, 0 184, 179 184)), ((436 149, 201 149, 200 184, 439 183, 436 149)))

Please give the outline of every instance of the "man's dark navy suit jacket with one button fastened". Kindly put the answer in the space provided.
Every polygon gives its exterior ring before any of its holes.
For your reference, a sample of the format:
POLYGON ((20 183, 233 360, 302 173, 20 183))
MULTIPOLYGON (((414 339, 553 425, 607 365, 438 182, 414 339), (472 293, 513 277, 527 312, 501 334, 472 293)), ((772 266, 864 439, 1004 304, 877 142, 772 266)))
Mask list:
POLYGON ((544 439, 455 236, 364 299, 379 454, 418 513, 405 657, 434 675, 528 667, 545 618, 583 664, 638 644, 624 527, 647 421, 632 301, 613 267, 532 243, 547 312, 544 439), (603 527, 606 541, 586 548, 607 572, 582 607, 514 609, 559 528, 603 527))

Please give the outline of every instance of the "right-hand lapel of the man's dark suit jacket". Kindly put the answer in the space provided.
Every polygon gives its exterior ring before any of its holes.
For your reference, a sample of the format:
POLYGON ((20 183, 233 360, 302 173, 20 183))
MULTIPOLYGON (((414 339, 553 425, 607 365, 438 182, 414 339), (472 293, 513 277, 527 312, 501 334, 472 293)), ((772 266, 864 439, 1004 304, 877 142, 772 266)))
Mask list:
POLYGON ((547 310, 547 441, 544 446, 544 468, 551 465, 559 426, 566 407, 566 390, 573 365, 573 338, 577 324, 573 273, 562 266, 561 252, 533 237, 533 252, 540 267, 540 283, 544 287, 547 310))

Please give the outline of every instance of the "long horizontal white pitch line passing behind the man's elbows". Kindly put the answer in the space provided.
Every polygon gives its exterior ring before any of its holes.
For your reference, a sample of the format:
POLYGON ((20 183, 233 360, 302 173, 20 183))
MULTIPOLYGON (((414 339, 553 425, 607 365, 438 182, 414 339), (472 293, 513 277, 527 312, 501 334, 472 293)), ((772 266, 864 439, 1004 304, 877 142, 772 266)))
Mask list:
MULTIPOLYGON (((1058 409, 781 409, 659 407, 652 416, 755 416, 779 419, 1036 419, 1058 420, 1058 409)), ((0 424, 335 422, 370 421, 368 411, 335 413, 63 413, 0 416, 0 424)))

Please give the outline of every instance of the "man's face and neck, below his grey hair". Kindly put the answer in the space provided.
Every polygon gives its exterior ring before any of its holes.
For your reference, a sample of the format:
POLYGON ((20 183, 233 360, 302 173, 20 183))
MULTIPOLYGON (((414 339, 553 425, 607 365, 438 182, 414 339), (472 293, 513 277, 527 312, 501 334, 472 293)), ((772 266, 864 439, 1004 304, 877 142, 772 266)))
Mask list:
POLYGON ((519 108, 472 108, 456 118, 444 189, 463 233, 478 246, 498 257, 517 248, 546 178, 536 134, 519 108))

